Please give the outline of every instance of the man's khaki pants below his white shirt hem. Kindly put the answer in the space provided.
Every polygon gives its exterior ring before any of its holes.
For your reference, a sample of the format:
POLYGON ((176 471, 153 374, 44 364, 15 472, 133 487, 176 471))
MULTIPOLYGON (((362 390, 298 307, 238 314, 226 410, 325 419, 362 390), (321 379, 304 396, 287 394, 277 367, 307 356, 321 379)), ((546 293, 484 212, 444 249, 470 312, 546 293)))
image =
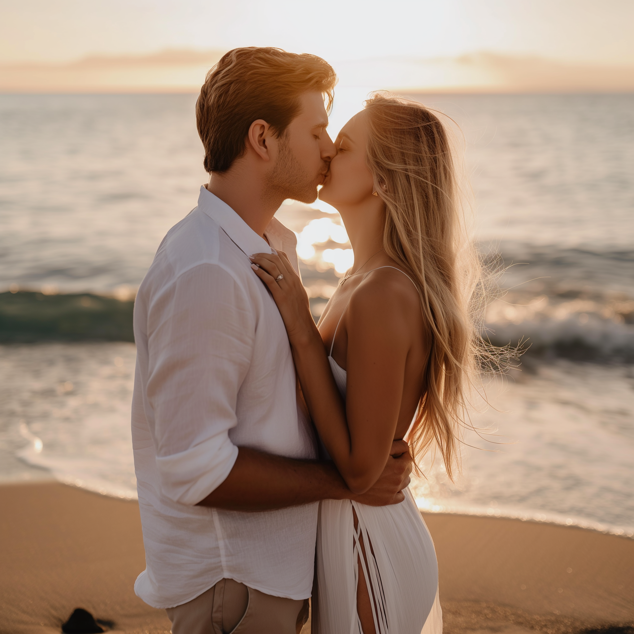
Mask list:
POLYGON ((167 609, 172 634, 299 634, 308 599, 272 597, 221 579, 199 597, 167 609))

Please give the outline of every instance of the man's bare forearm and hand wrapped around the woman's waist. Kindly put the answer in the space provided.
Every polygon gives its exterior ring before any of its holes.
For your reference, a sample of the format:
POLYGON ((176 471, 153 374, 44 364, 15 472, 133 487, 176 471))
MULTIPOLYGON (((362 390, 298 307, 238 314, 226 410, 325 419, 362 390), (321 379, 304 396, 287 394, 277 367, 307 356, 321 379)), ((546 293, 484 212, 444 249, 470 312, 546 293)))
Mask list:
POLYGON ((410 482, 407 444, 395 441, 376 484, 354 495, 332 462, 293 460, 242 447, 228 477, 198 505, 260 511, 318 500, 356 500, 371 506, 398 504, 410 482))

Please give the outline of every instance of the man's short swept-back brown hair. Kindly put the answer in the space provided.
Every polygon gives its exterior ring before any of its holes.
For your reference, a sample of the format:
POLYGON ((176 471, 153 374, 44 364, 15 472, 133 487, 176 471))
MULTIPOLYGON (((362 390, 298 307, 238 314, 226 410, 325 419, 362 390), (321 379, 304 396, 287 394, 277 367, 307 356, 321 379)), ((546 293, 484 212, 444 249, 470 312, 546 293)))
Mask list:
POLYGON ((249 127, 264 119, 279 137, 297 117, 299 96, 323 93, 332 105, 337 75, 316 55, 279 48, 235 48, 207 73, 196 102, 205 171, 225 172, 246 150, 249 127))

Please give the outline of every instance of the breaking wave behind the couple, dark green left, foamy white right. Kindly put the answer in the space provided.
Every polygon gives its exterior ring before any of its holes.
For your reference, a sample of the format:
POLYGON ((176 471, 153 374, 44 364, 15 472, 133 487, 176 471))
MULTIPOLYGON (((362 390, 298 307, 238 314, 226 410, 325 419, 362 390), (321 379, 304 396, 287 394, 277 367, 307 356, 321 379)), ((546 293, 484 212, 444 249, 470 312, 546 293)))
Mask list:
MULTIPOLYGON (((482 336, 497 346, 521 342, 525 358, 634 362, 634 301, 557 299, 496 299, 488 307, 482 336)), ((311 301, 323 309, 327 298, 311 301)), ((87 293, 1 293, 0 342, 133 342, 133 308, 133 301, 87 293)))

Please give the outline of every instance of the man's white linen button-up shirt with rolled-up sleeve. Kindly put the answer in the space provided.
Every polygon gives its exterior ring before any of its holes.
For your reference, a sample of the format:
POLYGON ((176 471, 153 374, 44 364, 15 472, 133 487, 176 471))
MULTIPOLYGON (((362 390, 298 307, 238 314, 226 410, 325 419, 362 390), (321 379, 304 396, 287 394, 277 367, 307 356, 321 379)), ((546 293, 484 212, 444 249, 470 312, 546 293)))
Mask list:
MULTIPOLYGON (((295 235, 275 218, 273 249, 295 269, 295 235)), ((226 479, 238 447, 316 458, 280 313, 249 257, 271 252, 222 200, 167 233, 134 306, 134 465, 146 569, 136 593, 173 607, 223 578, 309 597, 317 503, 265 512, 196 504, 226 479)))

